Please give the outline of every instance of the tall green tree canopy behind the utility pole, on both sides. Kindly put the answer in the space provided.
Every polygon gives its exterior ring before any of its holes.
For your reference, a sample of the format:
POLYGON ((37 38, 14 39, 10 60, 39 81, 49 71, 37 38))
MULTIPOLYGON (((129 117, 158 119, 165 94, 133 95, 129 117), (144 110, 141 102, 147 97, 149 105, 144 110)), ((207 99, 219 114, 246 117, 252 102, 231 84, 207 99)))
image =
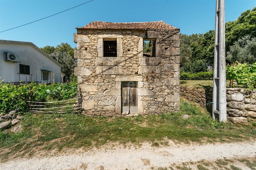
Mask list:
MULTIPOLYGON (((226 23, 226 52, 231 51, 233 45, 237 47, 237 43, 235 42, 246 35, 249 35, 251 38, 256 37, 256 7, 252 10, 244 11, 235 21, 226 23)), ((214 36, 214 30, 210 30, 204 34, 181 34, 180 66, 183 67, 189 61, 195 60, 204 60, 207 66, 213 66, 214 36)), ((244 48, 245 46, 240 47, 244 48)), ((234 48, 232 48, 233 51, 234 48)), ((228 60, 228 62, 232 63, 233 61, 228 60)), ((249 61, 245 60, 245 62, 249 61)), ((205 65, 202 67, 205 67, 205 65)))

